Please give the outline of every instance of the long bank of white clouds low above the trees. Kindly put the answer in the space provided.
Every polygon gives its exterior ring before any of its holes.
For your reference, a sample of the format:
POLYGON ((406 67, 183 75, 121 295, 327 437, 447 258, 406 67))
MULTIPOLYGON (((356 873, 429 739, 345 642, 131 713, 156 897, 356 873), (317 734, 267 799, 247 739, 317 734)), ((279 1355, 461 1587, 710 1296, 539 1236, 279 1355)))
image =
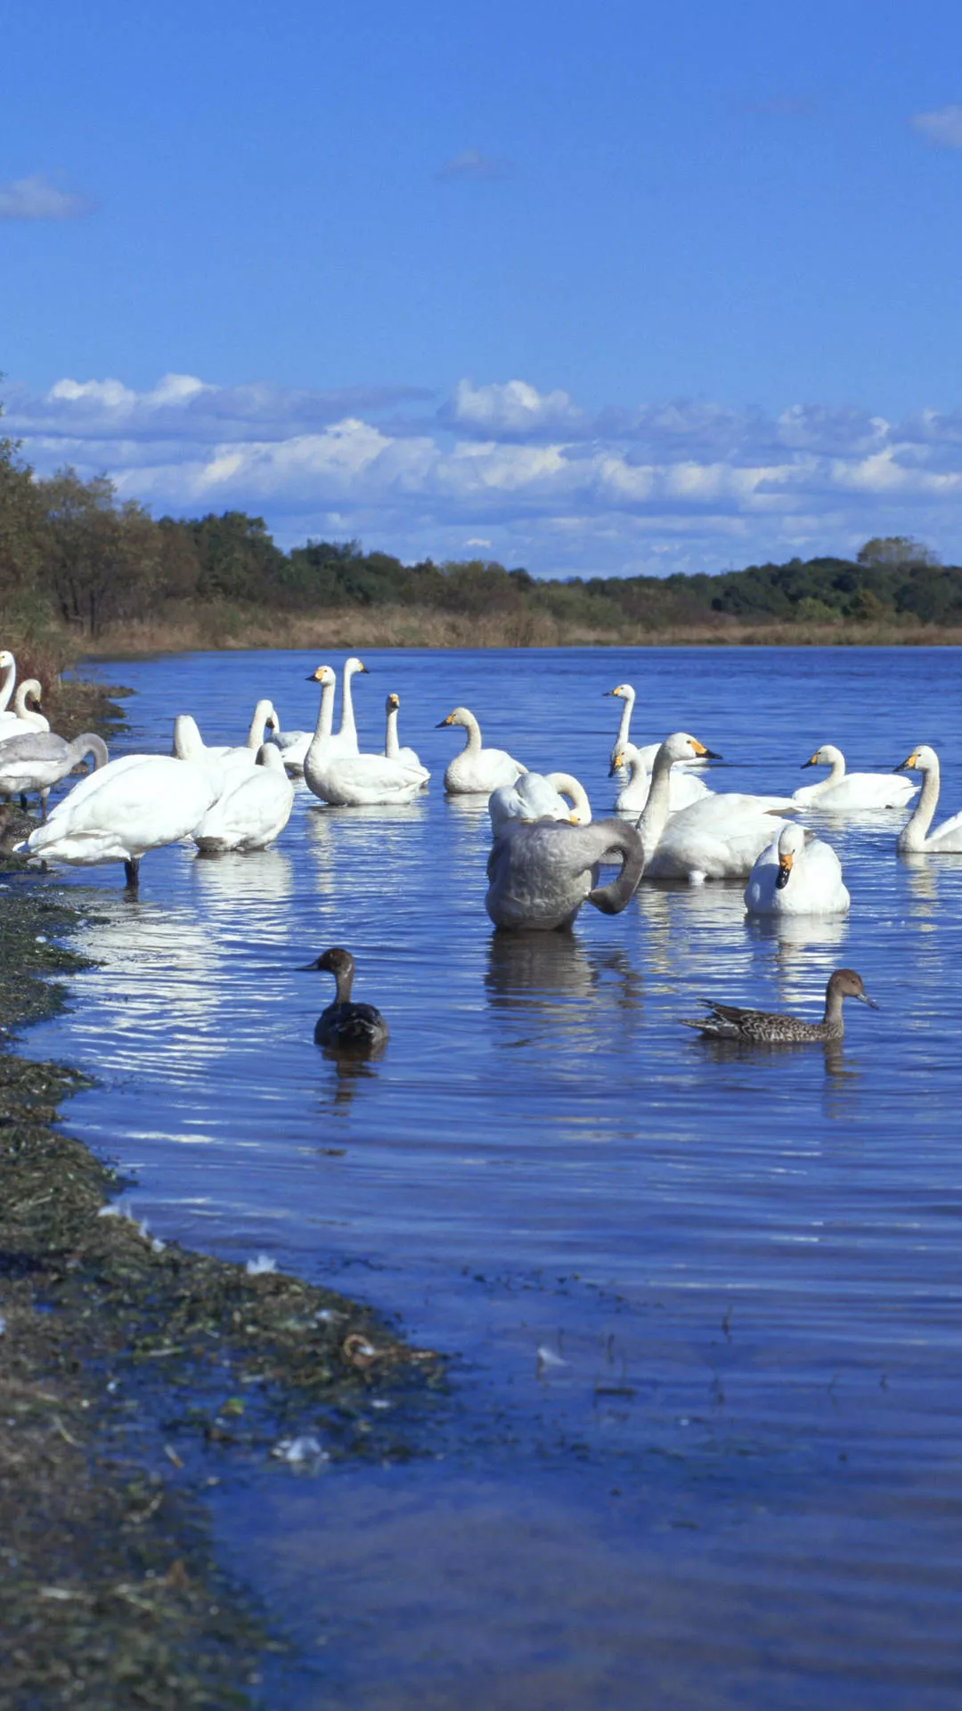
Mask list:
POLYGON ((5 431, 39 472, 111 472, 154 512, 248 508, 282 544, 358 536, 402 558, 483 549, 541 573, 717 570, 916 534, 962 559, 962 411, 902 423, 710 400, 582 411, 524 380, 430 392, 7 388, 5 431))

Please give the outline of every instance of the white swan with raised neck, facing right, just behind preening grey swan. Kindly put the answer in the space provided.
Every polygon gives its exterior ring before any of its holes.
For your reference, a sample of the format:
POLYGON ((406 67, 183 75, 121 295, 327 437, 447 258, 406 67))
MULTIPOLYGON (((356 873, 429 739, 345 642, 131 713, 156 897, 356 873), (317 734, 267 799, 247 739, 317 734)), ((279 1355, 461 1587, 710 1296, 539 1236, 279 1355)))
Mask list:
POLYGON ((692 756, 721 760, 685 731, 666 737, 657 751, 649 799, 638 821, 645 850, 650 850, 645 878, 688 879, 690 885, 746 879, 757 856, 782 828, 782 821, 774 820, 772 813, 786 799, 729 790, 705 796, 681 813, 669 814, 671 768, 692 756))

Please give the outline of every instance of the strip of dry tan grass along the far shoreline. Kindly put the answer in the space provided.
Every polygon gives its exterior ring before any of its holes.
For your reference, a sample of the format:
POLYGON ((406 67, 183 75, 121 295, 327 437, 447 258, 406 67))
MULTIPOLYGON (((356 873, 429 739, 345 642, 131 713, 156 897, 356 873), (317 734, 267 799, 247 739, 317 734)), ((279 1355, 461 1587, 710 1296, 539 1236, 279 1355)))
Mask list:
POLYGON ((561 623, 548 613, 440 613, 418 606, 265 613, 211 604, 171 607, 161 618, 111 626, 86 643, 92 659, 205 650, 495 648, 495 647, 960 647, 962 628, 900 623, 763 625, 719 618, 712 625, 616 630, 561 623))

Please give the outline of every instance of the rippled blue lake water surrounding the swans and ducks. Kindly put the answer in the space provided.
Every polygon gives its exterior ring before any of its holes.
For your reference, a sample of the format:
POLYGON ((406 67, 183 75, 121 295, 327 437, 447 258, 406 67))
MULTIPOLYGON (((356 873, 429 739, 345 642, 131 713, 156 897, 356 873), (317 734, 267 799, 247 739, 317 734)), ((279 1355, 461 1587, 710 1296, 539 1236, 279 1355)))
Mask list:
MULTIPOLYGON (((748 922, 741 885, 642 885, 572 934, 495 936, 488 818, 445 801, 462 734, 565 768, 603 814, 620 703, 686 729, 722 789, 791 792, 837 743, 890 770, 919 741, 962 806, 952 650, 378 652, 363 748, 433 779, 404 809, 300 792, 276 849, 147 856, 140 902, 86 869, 96 921, 70 1015, 29 1049, 98 1076, 74 1133, 137 1175, 159 1235, 270 1254, 452 1357, 416 1454, 216 1499, 300 1648, 265 1704, 407 1711, 943 1711, 962 1692, 962 857, 900 861, 904 814, 825 825, 842 922, 748 922), (342 1075, 312 1045, 327 944, 390 1023, 342 1075), (840 1054, 731 1054, 680 1027, 702 994, 820 1015, 840 1054), (852 1013, 854 1011, 854 1013, 852 1013)), ((332 657, 330 664, 341 664, 332 657)), ((270 695, 313 724, 312 654, 101 672, 123 749, 193 712, 243 741, 270 695)), ((414 1410, 418 1415, 418 1410, 414 1410)), ((305 1417, 305 1429, 313 1424, 305 1417)))

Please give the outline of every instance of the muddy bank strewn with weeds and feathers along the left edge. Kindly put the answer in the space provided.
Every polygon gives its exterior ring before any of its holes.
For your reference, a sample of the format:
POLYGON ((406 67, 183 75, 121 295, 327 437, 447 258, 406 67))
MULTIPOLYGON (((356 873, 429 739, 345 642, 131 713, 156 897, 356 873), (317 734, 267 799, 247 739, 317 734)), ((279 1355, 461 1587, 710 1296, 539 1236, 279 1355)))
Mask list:
POLYGON ((0 871, 0 1704, 243 1706, 282 1634, 217 1569, 205 1490, 404 1456, 371 1405, 440 1369, 334 1292, 154 1240, 55 1128, 82 1078, 10 1039, 65 1003, 75 919, 0 871))

